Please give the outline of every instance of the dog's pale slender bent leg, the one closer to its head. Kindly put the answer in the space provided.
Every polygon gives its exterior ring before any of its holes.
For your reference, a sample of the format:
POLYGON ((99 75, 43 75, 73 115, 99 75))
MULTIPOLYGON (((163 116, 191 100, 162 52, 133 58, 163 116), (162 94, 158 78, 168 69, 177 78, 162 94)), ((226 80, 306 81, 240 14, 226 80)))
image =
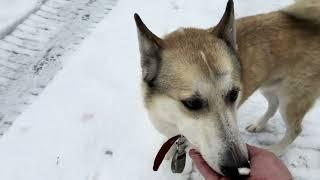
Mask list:
POLYGON ((249 132, 260 132, 263 130, 268 120, 277 112, 279 107, 279 100, 274 90, 261 89, 261 93, 268 101, 268 109, 257 122, 246 127, 246 130, 249 132))

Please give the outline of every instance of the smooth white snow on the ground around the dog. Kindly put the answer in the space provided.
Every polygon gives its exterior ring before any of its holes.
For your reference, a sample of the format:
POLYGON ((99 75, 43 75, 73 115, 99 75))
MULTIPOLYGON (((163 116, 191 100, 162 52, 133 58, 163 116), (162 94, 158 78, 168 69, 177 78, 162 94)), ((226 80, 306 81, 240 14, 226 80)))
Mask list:
MULTIPOLYGON (((25 6, 21 15, 34 5, 18 3, 26 0, 2 2, 0 27, 18 18, 2 11, 11 2, 25 6)), ((236 16, 268 12, 291 2, 237 0, 236 16)), ((171 174, 168 163, 159 172, 152 171, 163 137, 149 122, 141 100, 133 13, 138 12, 156 34, 164 35, 180 26, 216 24, 225 4, 224 0, 119 0, 0 139, 0 179, 187 179, 187 175, 171 174)), ((265 100, 256 93, 240 109, 240 128, 248 143, 273 143, 283 134, 279 114, 263 133, 244 131, 265 108, 265 100)), ((319 116, 318 103, 305 117, 304 131, 282 157, 296 179, 320 177, 319 116)))

